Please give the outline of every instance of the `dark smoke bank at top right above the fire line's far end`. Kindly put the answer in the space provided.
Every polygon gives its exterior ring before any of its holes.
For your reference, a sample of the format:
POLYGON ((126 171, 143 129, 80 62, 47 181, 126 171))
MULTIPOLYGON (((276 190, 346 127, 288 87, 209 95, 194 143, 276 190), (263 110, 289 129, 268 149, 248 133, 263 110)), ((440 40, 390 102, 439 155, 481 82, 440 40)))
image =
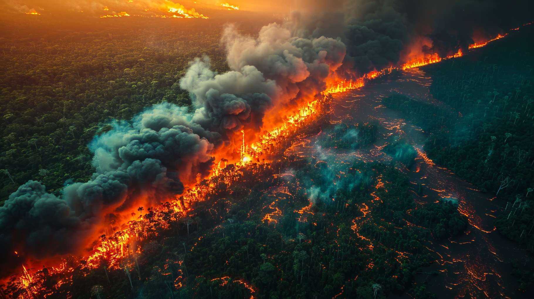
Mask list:
POLYGON ((532 2, 519 0, 314 0, 289 27, 302 37, 340 38, 347 46, 340 77, 399 65, 410 52, 446 56, 467 52, 474 37, 488 40, 534 19, 532 2))

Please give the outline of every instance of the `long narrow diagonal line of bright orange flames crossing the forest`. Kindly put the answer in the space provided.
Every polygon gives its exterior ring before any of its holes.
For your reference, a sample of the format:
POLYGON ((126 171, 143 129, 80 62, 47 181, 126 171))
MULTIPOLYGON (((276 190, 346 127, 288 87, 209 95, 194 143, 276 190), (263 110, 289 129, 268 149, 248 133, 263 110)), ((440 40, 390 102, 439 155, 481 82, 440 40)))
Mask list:
MULTIPOLYGON (((529 25, 529 24, 525 24, 525 25, 529 25)), ((498 38, 495 38, 493 40, 497 40, 497 39, 498 38)), ((487 42, 485 44, 487 44, 487 42)), ((475 47, 475 48, 480 48, 480 47, 475 47)), ((456 57, 461 57, 461 56, 462 56, 462 52, 459 51, 456 54, 446 57, 444 59, 456 58, 456 57)), ((428 63, 426 64, 438 62, 441 60, 442 60, 441 58, 437 59, 436 57, 430 57, 430 59, 427 59, 428 63)), ((423 59, 423 61, 425 61, 425 59, 423 59)), ((425 64, 422 64, 422 65, 425 65, 425 64)), ((420 63, 417 63, 416 61, 416 63, 413 63, 411 67, 418 67, 422 65, 420 63)), ((383 74, 390 73, 392 69, 406 69, 404 67, 410 68, 410 67, 407 67, 407 65, 405 64, 401 68, 389 67, 389 68, 386 68, 380 71, 374 70, 373 72, 370 72, 369 74, 366 74, 358 78, 355 82, 342 81, 343 83, 331 84, 331 87, 327 88, 324 94, 327 95, 328 93, 343 92, 343 91, 350 90, 350 89, 361 88, 364 85, 365 80, 371 80, 383 74)), ((301 107, 297 111, 296 114, 288 117, 288 119, 284 123, 282 123, 280 127, 272 129, 269 132, 266 132, 263 136, 259 138, 260 141, 258 141, 256 144, 251 145, 250 148, 244 145, 245 141, 243 138, 243 141, 242 141, 243 145, 241 147, 241 155, 249 156, 250 158, 259 158, 263 154, 268 153, 269 148, 272 145, 278 143, 282 138, 289 136, 295 130, 298 130, 304 127, 304 125, 308 124, 313 119, 313 117, 315 117, 317 114, 320 114, 321 109, 323 108, 323 104, 326 101, 326 98, 327 97, 324 97, 323 99, 314 100, 308 104, 305 104, 303 107, 301 107), (243 155, 244 153, 245 155, 243 155)), ((418 149, 418 153, 421 155, 423 160, 425 160, 425 162, 434 164, 432 160, 428 159, 426 154, 420 151, 419 149, 418 149)), ((246 164, 245 162, 248 162, 248 161, 242 161, 242 160, 243 159, 241 159, 241 161, 236 163, 236 165, 240 167, 245 166, 246 164)), ((151 214, 153 216, 150 219, 142 218, 138 221, 130 221, 127 224, 128 226, 127 229, 118 231, 114 233, 107 240, 101 241, 99 245, 93 249, 93 253, 89 257, 87 257, 87 263, 84 266, 82 266, 82 268, 96 269, 97 267, 100 267, 101 262, 105 260, 107 261, 110 268, 119 269, 120 268, 119 262, 121 261, 121 259, 129 256, 135 250, 132 248, 128 248, 127 245, 130 241, 145 240, 149 237, 150 234, 155 234, 156 228, 158 227, 162 229, 168 229, 170 227, 170 224, 168 220, 166 219, 169 219, 170 221, 177 221, 179 218, 184 217, 187 214, 187 212, 192 210, 191 208, 192 203, 205 200, 206 195, 209 192, 213 192, 216 190, 216 186, 217 186, 216 182, 218 182, 218 179, 223 180, 226 184, 231 184, 235 182, 237 179, 239 179, 239 177, 242 175, 242 172, 239 170, 239 168, 234 168, 228 171, 222 171, 222 169, 220 168, 220 162, 219 162, 218 170, 219 171, 217 171, 217 174, 212 175, 212 177, 207 181, 206 184, 197 184, 193 188, 188 189, 182 196, 176 196, 176 199, 171 200, 169 203, 161 204, 160 206, 155 207, 151 211, 152 212, 151 214), (169 214, 170 214, 170 217, 168 217, 169 214), (124 250, 125 248, 127 249, 124 250)), ((369 213, 367 205, 365 203, 363 203, 363 205, 365 206, 365 208, 360 209, 360 211, 362 211, 363 213, 363 216, 357 217, 356 219, 352 220, 352 223, 354 225, 351 226, 351 229, 356 232, 359 238, 370 241, 369 239, 365 238, 363 235, 359 235, 358 227, 356 225, 357 219, 364 218, 366 214, 369 213)), ((411 223, 408 223, 408 224, 413 225, 411 223)), ((478 227, 476 228, 480 229, 478 227)), ((489 231, 483 231, 483 232, 489 232, 489 231)), ((140 253, 140 249, 137 248, 136 252, 140 253)), ((372 263, 370 265, 372 265, 372 263)), ((72 273, 74 271, 72 267, 69 267, 68 269, 65 269, 65 267, 63 269, 56 269, 56 268, 52 268, 52 269, 53 269, 52 273, 62 273, 62 272, 72 273)), ((39 284, 37 285, 37 282, 33 281, 32 276, 29 274, 29 272, 26 270, 24 266, 23 266, 23 271, 24 272, 17 279, 15 279, 15 284, 19 285, 19 289, 26 289, 26 290, 28 290, 27 288, 28 285, 33 284, 33 289, 35 289, 35 293, 38 293, 37 289, 38 288, 40 289, 41 287, 37 287, 37 286, 38 285, 42 286, 44 279, 42 279, 42 281, 40 281, 39 284)), ((70 282, 72 282, 72 274, 70 275, 70 282)), ((59 285, 64 284, 64 283, 65 282, 63 281, 58 282, 59 285)), ((58 286, 58 284, 56 286, 58 286)), ((181 283, 179 285, 181 286, 181 283)), ((54 286, 54 288, 56 288, 56 286, 54 286)), ((35 297, 35 296, 36 295, 31 295, 30 297, 35 297)))

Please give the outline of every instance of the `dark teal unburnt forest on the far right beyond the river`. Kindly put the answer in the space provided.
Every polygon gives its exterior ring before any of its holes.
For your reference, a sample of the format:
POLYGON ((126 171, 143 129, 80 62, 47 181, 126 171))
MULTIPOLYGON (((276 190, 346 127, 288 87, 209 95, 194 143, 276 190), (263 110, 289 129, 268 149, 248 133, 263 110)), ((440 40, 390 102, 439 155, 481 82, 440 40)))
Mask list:
POLYGON ((533 65, 530 43, 512 35, 506 43, 494 42, 467 57, 426 66, 433 78, 430 91, 441 104, 401 95, 383 101, 430 133, 425 144, 429 158, 504 200, 499 204, 506 207, 504 213, 495 222, 498 232, 531 252, 533 65))

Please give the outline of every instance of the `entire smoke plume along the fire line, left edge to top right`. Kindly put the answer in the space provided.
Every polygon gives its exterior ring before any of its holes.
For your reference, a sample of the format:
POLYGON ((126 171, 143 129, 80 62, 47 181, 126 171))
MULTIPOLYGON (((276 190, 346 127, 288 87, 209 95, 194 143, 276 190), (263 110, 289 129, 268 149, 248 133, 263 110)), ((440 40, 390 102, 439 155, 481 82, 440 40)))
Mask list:
POLYGON ((60 198, 33 180, 20 186, 0 207, 0 253, 21 248, 46 257, 80 250, 106 218, 182 193, 184 183, 208 173, 215 151, 230 145, 235 132, 254 136, 265 123, 278 123, 296 104, 320 97, 329 79, 396 65, 421 39, 430 41, 421 51, 467 49, 477 29, 493 34, 525 21, 497 16, 509 17, 517 7, 529 11, 526 1, 454 1, 437 8, 423 1, 348 3, 319 2, 316 11, 265 26, 258 37, 224 29, 230 72, 217 74, 208 58, 195 59, 180 80, 195 111, 162 103, 131 124, 113 123, 89 145, 96 168, 91 180, 66 186, 60 198))

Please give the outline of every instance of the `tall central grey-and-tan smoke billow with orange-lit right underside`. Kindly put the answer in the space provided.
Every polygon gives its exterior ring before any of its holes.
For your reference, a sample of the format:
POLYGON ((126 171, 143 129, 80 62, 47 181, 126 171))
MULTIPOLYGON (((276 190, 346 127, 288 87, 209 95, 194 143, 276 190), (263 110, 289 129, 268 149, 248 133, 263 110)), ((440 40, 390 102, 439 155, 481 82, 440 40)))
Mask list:
POLYGON ((295 37, 276 23, 257 38, 229 26, 223 43, 230 72, 216 74, 209 59, 196 59, 180 80, 195 103, 193 121, 223 134, 244 127, 254 134, 265 120, 276 124, 291 107, 320 97, 345 54, 339 40, 295 37))

